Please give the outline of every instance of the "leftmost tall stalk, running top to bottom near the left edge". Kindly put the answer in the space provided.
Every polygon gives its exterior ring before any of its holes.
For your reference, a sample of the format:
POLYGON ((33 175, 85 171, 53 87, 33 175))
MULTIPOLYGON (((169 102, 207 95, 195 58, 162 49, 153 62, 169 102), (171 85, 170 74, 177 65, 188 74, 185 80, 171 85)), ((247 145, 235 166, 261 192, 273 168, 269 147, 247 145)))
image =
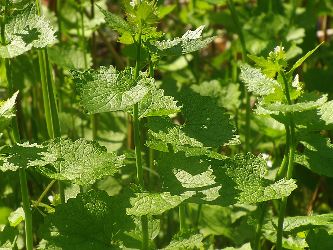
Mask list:
MULTIPOLYGON (((8 1, 5 3, 5 10, 2 17, 1 23, 1 42, 2 44, 6 44, 5 38, 5 24, 8 14, 8 1)), ((6 68, 6 76, 7 76, 7 91, 8 98, 13 96, 13 82, 12 82, 12 72, 9 64, 9 59, 4 58, 5 60, 5 68, 6 68)), ((17 124, 17 117, 14 116, 12 118, 12 132, 14 137, 14 143, 21 143, 20 132, 17 124)), ((19 177, 20 177, 20 186, 22 193, 22 202, 23 202, 23 211, 25 215, 25 237, 26 237, 26 249, 33 250, 33 232, 32 232, 32 216, 30 209, 30 200, 28 193, 28 185, 27 185, 27 176, 25 169, 19 168, 19 177)))

